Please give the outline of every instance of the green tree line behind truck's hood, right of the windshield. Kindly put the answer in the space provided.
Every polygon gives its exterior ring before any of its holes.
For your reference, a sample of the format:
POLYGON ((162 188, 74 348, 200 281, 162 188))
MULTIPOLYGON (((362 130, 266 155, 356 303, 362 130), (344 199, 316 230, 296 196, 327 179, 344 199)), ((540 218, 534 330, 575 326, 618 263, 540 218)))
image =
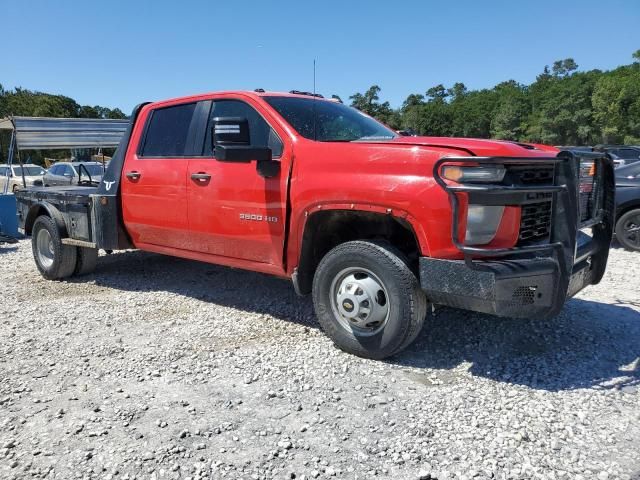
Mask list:
POLYGON ((410 94, 400 108, 380 87, 351 95, 351 106, 418 135, 496 138, 551 145, 640 144, 640 50, 614 70, 578 71, 572 58, 544 67, 531 85, 491 89, 464 83, 410 94))

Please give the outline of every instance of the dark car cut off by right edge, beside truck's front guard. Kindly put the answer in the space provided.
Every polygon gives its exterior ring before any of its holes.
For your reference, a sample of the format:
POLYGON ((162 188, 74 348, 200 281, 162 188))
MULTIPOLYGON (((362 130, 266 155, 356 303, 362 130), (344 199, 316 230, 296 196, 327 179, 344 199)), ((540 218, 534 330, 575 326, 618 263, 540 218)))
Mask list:
POLYGON ((640 162, 617 168, 616 238, 623 247, 640 251, 640 162))

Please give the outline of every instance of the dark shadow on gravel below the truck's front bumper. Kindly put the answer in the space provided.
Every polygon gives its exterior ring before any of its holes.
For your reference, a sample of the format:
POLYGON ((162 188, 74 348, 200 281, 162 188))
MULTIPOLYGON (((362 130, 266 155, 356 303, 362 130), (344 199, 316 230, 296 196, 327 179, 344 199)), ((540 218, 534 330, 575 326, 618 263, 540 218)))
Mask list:
POLYGON ((640 312, 627 305, 572 299, 551 320, 442 308, 392 361, 443 369, 445 383, 455 383, 452 369, 465 363, 473 376, 533 389, 635 390, 640 386, 640 312))

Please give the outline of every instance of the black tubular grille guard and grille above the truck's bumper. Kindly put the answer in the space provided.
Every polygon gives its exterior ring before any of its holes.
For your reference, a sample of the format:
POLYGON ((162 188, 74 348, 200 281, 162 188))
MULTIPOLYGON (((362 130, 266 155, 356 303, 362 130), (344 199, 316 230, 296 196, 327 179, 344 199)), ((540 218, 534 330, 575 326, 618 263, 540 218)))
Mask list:
POLYGON ((471 268, 481 267, 483 258, 546 253, 570 275, 574 264, 602 250, 602 242, 611 236, 614 187, 611 160, 606 155, 563 151, 556 157, 451 156, 436 162, 433 175, 451 203, 451 240, 471 268), (495 184, 447 183, 441 176, 445 164, 504 165, 506 174, 495 184), (468 203, 474 205, 520 206, 516 246, 466 245, 461 240, 459 194, 466 194, 468 203), (592 230, 590 235, 581 232, 588 228, 592 230))

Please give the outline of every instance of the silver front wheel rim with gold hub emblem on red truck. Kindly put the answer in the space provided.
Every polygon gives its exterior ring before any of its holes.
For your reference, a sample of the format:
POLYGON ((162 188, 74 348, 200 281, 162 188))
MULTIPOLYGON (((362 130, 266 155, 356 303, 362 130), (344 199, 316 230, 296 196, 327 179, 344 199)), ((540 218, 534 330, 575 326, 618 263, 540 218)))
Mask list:
POLYGON ((350 267, 331 283, 331 308, 340 325, 357 336, 375 335, 389 319, 389 295, 370 270, 350 267))

